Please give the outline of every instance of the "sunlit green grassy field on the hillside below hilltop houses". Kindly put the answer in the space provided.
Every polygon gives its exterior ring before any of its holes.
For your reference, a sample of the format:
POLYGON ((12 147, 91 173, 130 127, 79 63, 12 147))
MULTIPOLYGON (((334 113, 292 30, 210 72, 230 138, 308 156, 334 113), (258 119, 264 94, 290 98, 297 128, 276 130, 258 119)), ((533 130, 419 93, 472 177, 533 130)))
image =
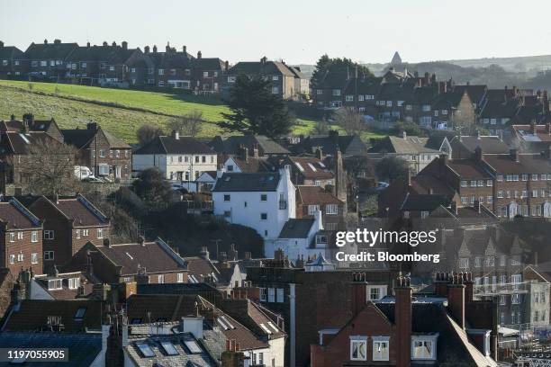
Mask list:
MULTIPOLYGON (((191 111, 203 112, 200 136, 224 133, 215 122, 221 121, 221 112, 229 110, 215 97, 0 80, 0 120, 12 113, 21 119, 23 113, 32 112, 36 119, 54 118, 62 129, 84 128, 86 122, 95 121, 131 143, 136 141, 136 130, 141 125, 148 123, 167 130, 171 116, 191 111)), ((299 119, 293 133, 308 134, 315 123, 299 119)), ((362 135, 363 139, 371 137, 380 135, 362 135)))

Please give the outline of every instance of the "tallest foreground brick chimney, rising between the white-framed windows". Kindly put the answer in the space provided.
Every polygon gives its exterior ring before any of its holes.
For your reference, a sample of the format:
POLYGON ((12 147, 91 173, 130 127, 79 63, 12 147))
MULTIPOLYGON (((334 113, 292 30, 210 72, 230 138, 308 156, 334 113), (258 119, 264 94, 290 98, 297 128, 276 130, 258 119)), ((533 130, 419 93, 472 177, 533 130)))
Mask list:
POLYGON ((394 287, 394 322, 397 331, 396 356, 397 367, 409 367, 411 364, 411 286, 410 278, 400 276, 394 287))

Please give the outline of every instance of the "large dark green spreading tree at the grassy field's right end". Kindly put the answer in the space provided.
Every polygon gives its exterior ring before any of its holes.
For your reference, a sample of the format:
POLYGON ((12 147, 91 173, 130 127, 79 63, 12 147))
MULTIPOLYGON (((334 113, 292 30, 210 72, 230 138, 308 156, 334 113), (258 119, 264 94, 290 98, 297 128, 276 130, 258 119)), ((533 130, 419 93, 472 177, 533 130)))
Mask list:
POLYGON ((222 113, 222 129, 246 135, 276 138, 287 134, 293 126, 285 102, 272 93, 272 83, 261 77, 238 76, 226 103, 231 113, 222 113))

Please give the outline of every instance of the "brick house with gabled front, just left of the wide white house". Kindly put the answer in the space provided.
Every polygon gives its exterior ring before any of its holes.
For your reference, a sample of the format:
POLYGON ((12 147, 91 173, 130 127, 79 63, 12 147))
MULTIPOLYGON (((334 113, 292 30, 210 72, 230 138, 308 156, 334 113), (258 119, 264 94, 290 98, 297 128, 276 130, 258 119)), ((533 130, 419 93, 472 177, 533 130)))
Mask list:
POLYGON ((66 144, 77 149, 76 164, 86 166, 96 176, 115 180, 131 179, 131 147, 89 122, 86 129, 61 130, 66 144))

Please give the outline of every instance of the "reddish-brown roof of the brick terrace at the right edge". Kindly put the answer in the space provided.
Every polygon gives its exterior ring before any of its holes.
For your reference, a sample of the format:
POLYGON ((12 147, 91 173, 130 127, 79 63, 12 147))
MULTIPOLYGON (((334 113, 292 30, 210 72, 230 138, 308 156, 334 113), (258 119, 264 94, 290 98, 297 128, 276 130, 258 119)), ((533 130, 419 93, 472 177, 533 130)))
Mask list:
POLYGON ((484 155, 483 160, 499 174, 548 174, 551 160, 540 154, 518 154, 515 161, 509 154, 484 155))

